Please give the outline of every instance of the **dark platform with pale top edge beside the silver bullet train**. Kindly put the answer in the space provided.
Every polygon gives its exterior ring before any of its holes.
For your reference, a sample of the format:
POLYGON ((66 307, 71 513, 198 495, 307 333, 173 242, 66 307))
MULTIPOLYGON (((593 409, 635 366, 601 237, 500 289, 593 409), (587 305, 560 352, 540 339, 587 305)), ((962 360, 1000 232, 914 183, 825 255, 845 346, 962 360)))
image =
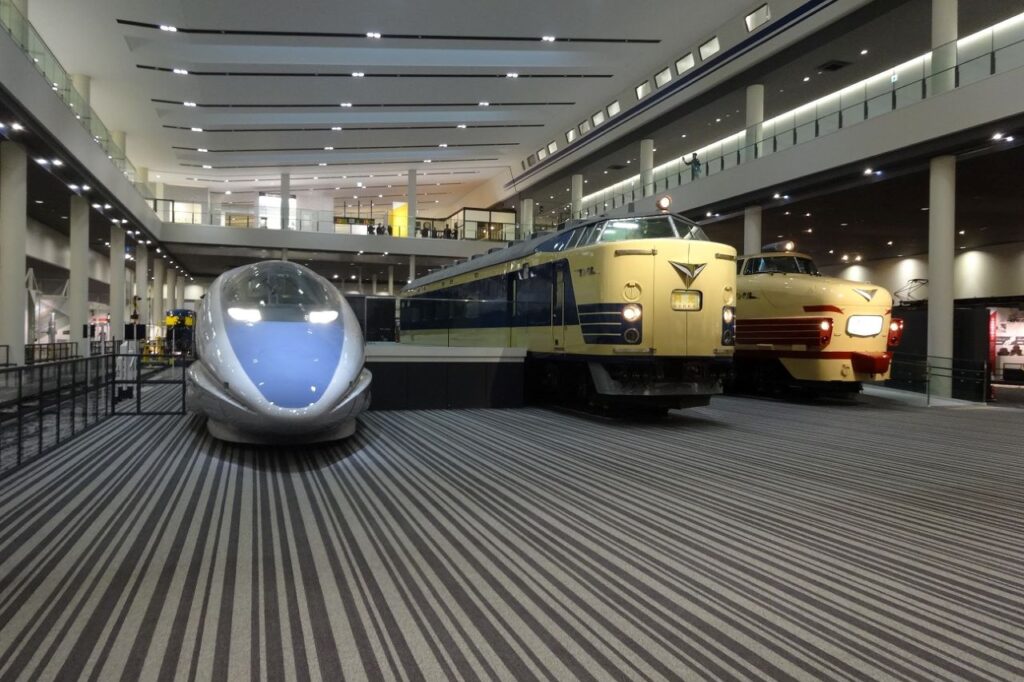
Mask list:
POLYGON ((521 408, 523 348, 368 343, 371 410, 521 408))

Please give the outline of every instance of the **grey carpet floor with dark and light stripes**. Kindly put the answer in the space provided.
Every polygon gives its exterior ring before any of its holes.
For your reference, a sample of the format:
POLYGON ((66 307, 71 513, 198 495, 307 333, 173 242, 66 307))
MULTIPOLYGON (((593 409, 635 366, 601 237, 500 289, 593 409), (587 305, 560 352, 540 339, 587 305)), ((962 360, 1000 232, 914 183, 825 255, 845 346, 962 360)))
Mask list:
POLYGON ((116 417, 0 481, 0 678, 1020 680, 1013 411, 116 417))

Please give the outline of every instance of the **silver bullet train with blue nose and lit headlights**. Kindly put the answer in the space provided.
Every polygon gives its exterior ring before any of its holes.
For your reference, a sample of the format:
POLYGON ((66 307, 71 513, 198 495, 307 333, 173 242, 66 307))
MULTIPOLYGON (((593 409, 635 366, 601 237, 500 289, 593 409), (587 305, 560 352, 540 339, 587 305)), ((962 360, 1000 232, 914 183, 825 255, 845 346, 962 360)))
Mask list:
POLYGON ((370 404, 359 324, 335 286, 302 265, 271 260, 224 272, 196 328, 186 400, 214 437, 344 438, 370 404))

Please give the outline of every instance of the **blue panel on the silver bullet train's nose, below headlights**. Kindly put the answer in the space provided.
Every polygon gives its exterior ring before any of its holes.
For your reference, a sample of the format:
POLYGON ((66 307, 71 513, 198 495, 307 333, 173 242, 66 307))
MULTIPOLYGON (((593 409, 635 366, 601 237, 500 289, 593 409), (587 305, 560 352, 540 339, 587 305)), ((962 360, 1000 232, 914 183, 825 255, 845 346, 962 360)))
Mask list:
POLYGON ((323 397, 341 357, 340 325, 225 323, 234 355, 269 402, 300 409, 323 397))

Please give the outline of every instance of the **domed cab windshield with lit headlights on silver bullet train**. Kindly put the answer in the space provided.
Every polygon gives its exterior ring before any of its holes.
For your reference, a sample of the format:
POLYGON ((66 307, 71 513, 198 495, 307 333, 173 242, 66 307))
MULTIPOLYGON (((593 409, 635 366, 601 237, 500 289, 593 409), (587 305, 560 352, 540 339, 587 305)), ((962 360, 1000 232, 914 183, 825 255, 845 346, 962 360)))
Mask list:
POLYGON ((289 263, 256 263, 224 283, 221 303, 238 322, 330 323, 338 317, 341 294, 289 263))

